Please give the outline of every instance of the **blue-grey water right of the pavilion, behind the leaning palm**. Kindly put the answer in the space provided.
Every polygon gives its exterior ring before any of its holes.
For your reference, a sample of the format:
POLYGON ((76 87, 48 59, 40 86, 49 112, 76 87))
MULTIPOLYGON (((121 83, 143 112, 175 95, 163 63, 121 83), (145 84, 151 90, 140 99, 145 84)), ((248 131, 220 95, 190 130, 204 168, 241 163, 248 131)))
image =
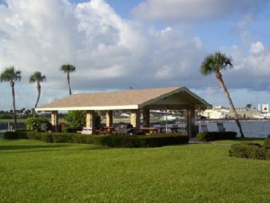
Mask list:
MULTIPOLYGON (((206 123, 209 131, 218 131, 217 123, 206 123)), ((199 131, 201 132, 201 124, 199 125, 199 131)), ((237 132, 237 137, 241 137, 239 128, 236 122, 224 122, 226 131, 237 132)), ((270 120, 269 121, 252 121, 252 122, 241 122, 242 131, 245 137, 254 138, 267 138, 270 135, 270 120)))

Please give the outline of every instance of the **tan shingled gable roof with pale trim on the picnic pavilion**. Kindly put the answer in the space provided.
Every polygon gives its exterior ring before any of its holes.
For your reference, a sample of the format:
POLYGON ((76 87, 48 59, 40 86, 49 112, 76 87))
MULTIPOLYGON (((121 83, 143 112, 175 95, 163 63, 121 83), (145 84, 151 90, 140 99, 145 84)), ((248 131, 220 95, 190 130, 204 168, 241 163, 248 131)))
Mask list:
POLYGON ((110 110, 138 109, 177 94, 187 104, 209 106, 205 100, 186 87, 163 87, 152 89, 129 89, 103 93, 74 94, 41 105, 35 110, 110 110))

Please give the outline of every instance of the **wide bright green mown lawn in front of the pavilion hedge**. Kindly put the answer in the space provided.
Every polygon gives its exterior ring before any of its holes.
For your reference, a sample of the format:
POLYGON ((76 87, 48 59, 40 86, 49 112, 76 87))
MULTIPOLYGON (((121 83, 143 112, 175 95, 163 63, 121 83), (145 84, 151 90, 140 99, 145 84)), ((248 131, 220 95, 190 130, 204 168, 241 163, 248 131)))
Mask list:
POLYGON ((228 150, 0 139, 0 201, 269 202, 270 161, 229 157, 228 150))

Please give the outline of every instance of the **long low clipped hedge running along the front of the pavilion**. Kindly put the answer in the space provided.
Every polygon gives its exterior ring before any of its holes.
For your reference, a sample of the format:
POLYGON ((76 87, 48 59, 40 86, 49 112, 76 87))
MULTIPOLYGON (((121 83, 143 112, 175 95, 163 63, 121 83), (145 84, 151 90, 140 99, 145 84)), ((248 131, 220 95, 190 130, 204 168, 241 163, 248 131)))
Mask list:
POLYGON ((6 139, 33 139, 50 143, 102 144, 110 147, 158 147, 173 144, 187 144, 189 137, 180 133, 158 134, 155 136, 93 136, 75 133, 13 132, 5 134, 6 139), (15 136, 14 136, 15 135, 15 136))

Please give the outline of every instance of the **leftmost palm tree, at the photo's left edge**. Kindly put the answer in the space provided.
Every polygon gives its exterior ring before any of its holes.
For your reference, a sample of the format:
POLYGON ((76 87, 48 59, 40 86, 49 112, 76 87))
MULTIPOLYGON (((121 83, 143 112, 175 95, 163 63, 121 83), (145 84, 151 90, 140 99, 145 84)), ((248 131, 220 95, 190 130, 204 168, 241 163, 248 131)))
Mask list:
POLYGON ((13 98, 13 115, 14 115, 14 123, 17 124, 17 117, 16 117, 16 107, 15 107, 15 91, 14 91, 14 82, 20 81, 22 71, 15 70, 14 66, 7 67, 0 75, 1 82, 9 82, 10 87, 12 89, 12 98, 13 98))

